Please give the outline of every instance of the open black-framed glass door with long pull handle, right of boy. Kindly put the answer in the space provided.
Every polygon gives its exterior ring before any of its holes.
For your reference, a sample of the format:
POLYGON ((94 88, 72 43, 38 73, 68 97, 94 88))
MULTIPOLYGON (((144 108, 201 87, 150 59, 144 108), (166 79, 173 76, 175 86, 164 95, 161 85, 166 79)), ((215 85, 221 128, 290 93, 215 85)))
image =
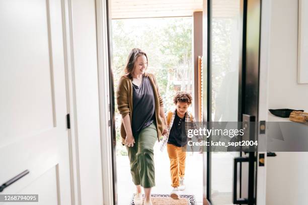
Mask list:
MULTIPOLYGON (((208 7, 205 115, 208 121, 226 126, 227 122, 258 122, 261 1, 211 0, 208 7)), ((257 126, 241 140, 257 140, 257 126)), ((257 153, 244 151, 210 147, 204 170, 210 204, 255 204, 257 153)))

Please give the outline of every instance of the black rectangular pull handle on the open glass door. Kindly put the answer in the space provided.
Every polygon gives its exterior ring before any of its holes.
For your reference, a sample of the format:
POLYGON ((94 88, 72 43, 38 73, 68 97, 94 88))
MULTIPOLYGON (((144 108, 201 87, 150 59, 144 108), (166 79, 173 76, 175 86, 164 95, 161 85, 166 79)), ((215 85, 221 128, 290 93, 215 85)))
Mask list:
POLYGON ((249 162, 248 157, 234 158, 234 176, 233 176, 233 203, 248 204, 248 198, 238 198, 238 163, 249 162))

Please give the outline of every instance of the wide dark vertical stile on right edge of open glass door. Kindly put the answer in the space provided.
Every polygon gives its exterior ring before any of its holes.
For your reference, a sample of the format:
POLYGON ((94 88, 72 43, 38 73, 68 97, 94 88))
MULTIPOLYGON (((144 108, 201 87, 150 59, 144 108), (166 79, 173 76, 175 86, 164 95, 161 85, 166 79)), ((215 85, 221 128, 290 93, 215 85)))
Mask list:
MULTIPOLYGON (((259 121, 259 77, 260 77, 260 31, 261 31, 261 0, 247 1, 246 28, 246 82, 245 109, 243 113, 255 116, 259 121)), ((252 131, 252 140, 258 140, 257 125, 252 131)), ((256 204, 257 195, 257 152, 249 152, 248 204, 256 204)))

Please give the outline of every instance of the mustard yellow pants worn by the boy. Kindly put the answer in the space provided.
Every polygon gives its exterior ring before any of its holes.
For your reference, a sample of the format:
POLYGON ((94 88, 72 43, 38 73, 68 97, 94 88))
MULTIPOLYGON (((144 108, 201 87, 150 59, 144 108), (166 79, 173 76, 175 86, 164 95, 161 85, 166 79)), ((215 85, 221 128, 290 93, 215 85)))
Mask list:
POLYGON ((170 159, 171 186, 178 187, 180 185, 180 177, 185 175, 186 146, 177 147, 167 144, 167 151, 170 159))

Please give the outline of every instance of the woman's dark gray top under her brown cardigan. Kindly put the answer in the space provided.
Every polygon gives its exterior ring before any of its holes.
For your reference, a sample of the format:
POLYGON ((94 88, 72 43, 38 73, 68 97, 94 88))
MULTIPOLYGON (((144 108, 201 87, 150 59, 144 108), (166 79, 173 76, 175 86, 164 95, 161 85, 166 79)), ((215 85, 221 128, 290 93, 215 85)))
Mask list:
POLYGON ((148 77, 143 76, 139 86, 132 83, 132 88, 133 112, 131 128, 135 136, 155 120, 155 98, 153 87, 148 77))

